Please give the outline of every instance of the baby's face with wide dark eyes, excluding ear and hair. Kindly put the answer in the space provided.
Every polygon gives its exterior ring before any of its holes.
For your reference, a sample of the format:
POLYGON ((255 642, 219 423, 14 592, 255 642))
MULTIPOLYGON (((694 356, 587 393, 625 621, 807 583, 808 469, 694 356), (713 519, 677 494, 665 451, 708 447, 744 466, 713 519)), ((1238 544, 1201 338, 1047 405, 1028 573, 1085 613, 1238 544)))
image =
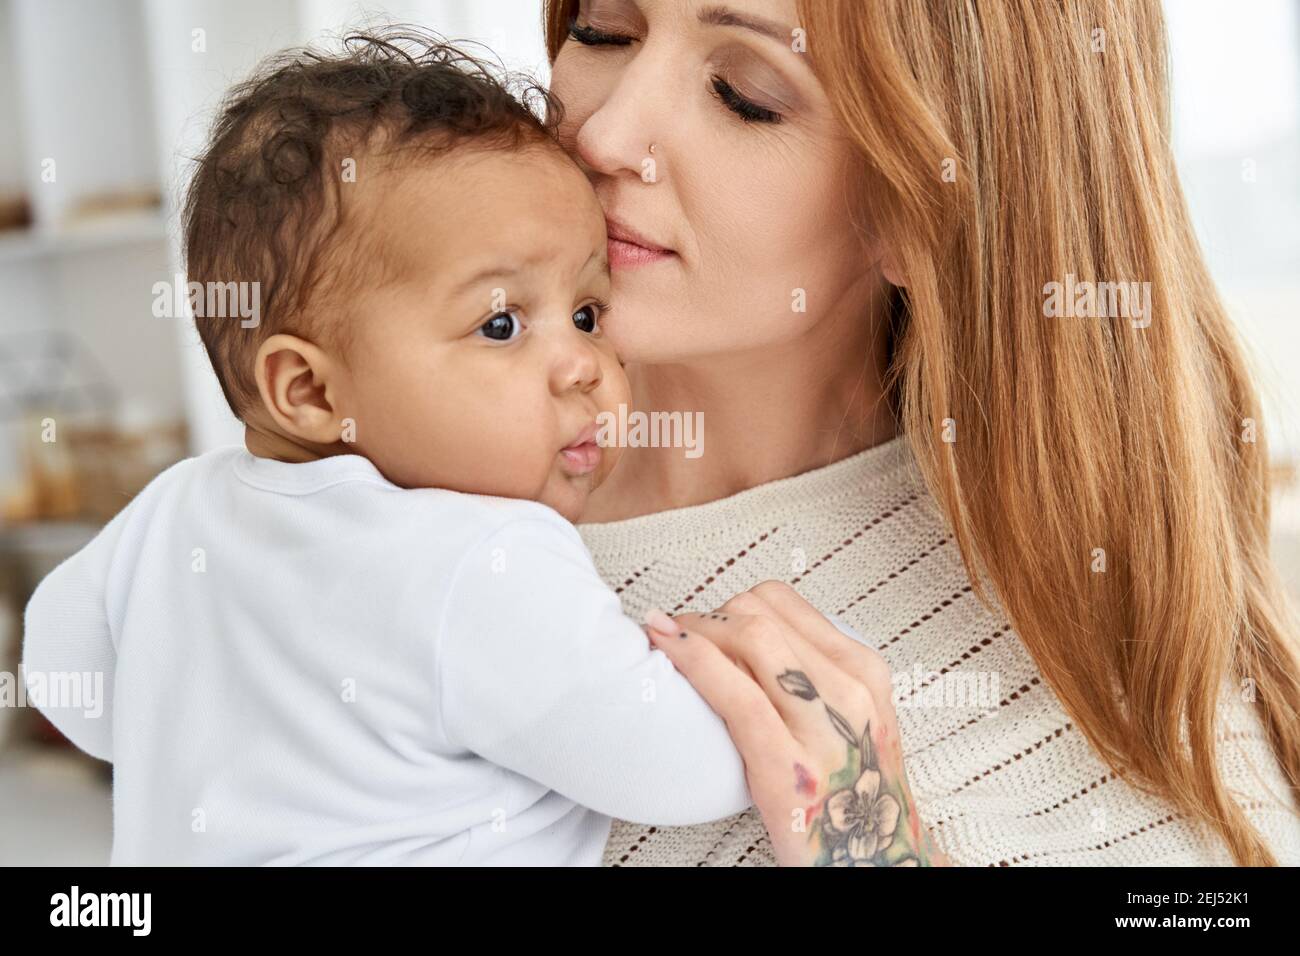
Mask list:
POLYGON ((575 520, 619 454, 595 445, 597 415, 628 402, 586 178, 546 150, 468 150, 369 182, 363 165, 356 187, 382 235, 359 254, 387 276, 351 303, 341 398, 358 453, 404 488, 530 498, 575 520))

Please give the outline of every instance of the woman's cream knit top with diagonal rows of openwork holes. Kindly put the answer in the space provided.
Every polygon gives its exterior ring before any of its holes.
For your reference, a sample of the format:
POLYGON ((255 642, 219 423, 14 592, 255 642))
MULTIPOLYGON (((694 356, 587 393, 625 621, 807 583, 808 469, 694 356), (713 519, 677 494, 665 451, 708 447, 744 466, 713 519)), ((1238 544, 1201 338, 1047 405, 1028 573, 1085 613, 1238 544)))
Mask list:
MULTIPOLYGON (((638 620, 655 605, 712 610, 777 579, 855 627, 893 671, 913 793, 954 864, 1231 864, 1219 838, 1100 761, 1015 631, 971 592, 904 438, 720 501, 578 531, 638 620)), ((1227 702, 1223 714, 1228 787, 1279 862, 1300 865, 1300 814, 1254 706, 1227 702)), ((701 826, 615 821, 604 849, 611 866, 774 862, 753 808, 701 826)))

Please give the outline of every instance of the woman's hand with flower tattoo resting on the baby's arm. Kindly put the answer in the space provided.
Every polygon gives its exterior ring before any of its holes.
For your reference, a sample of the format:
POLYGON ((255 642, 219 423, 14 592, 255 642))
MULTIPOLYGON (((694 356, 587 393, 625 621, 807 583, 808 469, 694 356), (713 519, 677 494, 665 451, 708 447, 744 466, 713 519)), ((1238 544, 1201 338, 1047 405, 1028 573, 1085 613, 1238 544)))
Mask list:
POLYGON ((781 581, 646 622, 727 723, 777 862, 950 865, 916 814, 880 654, 781 581))

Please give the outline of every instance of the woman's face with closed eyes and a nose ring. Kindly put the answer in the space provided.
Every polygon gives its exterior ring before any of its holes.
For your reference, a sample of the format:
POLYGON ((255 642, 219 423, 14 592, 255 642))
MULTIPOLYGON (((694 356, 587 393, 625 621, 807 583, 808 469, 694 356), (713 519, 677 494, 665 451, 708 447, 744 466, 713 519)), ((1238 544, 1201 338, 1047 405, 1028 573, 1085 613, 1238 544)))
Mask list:
POLYGON ((627 362, 867 321, 878 256, 796 16, 794 0, 581 0, 551 87, 608 220, 606 332, 627 362))

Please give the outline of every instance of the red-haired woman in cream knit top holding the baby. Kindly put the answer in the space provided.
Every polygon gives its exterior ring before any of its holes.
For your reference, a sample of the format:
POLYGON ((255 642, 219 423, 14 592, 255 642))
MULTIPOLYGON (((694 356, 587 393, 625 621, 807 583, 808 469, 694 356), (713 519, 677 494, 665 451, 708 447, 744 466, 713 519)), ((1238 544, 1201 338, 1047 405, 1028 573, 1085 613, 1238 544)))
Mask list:
POLYGON ((606 861, 1300 864, 1268 457, 1157 0, 546 25, 633 407, 707 425, 628 447, 580 527, 676 615, 758 808, 616 823, 606 861))

